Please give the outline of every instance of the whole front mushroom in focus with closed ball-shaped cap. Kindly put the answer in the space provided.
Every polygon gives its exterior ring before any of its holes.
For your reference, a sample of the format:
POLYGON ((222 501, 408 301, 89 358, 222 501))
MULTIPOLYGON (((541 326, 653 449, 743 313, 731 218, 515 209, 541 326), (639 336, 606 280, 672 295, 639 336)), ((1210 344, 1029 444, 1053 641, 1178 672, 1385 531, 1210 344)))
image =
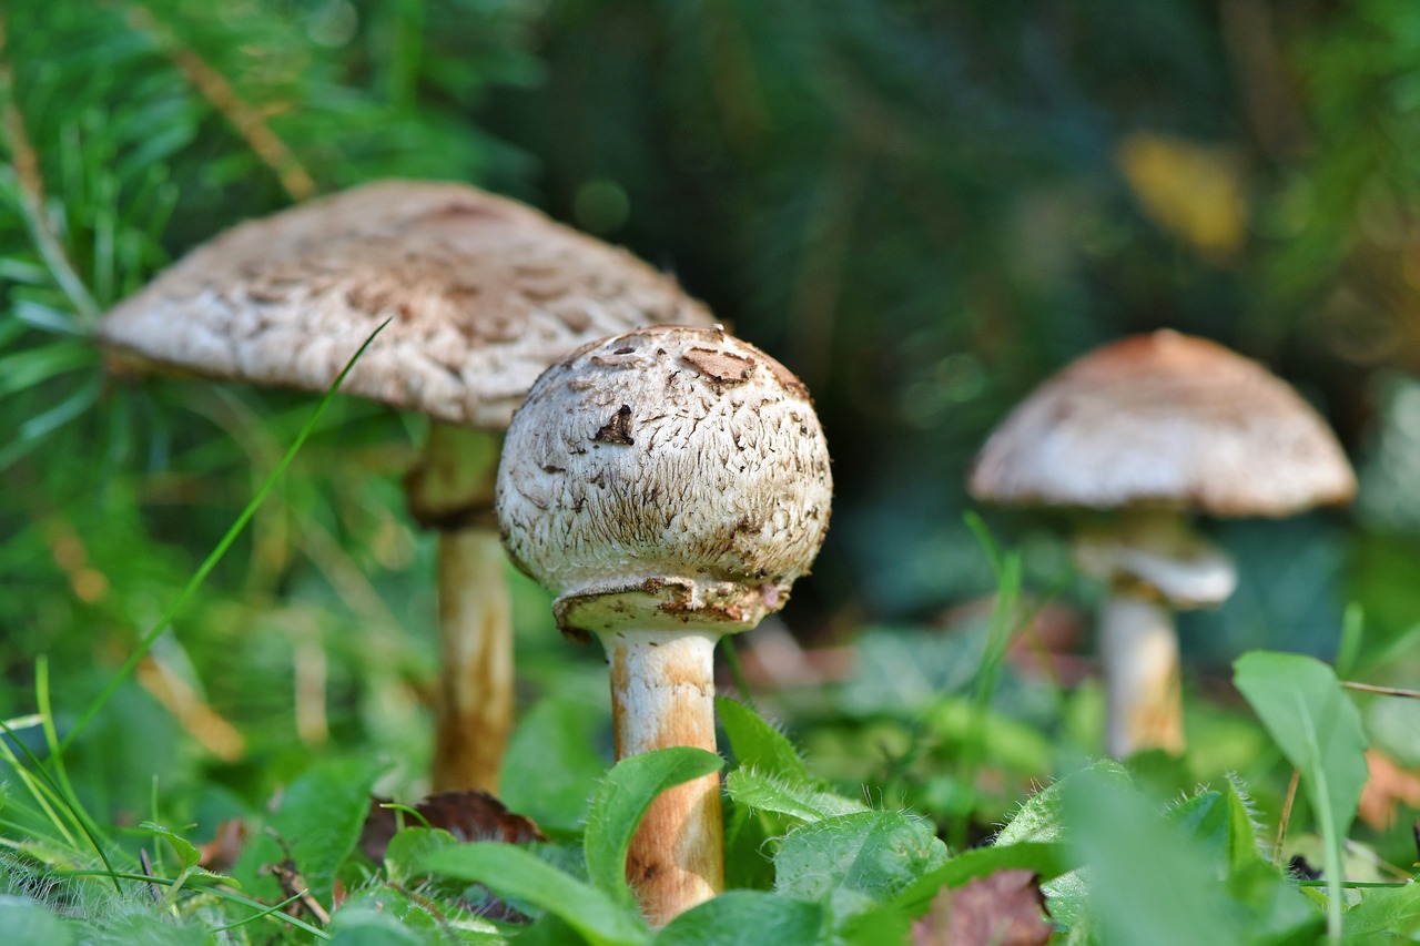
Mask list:
MULTIPOLYGON (((562 632, 606 648, 618 759, 714 751, 714 645, 784 607, 831 497, 802 382, 723 331, 629 332, 537 381, 503 447, 498 523, 562 632)), ((720 892, 723 849, 717 776, 660 795, 626 866, 648 919, 720 892)))

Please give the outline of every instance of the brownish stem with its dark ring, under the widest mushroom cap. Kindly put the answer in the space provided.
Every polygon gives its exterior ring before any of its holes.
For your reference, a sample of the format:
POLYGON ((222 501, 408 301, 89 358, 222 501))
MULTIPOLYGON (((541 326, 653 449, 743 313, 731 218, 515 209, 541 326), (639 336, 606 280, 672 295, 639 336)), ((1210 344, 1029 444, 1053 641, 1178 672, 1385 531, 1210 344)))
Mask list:
POLYGON ((500 437, 435 422, 405 480, 420 524, 439 528, 439 706, 435 791, 498 793, 513 727, 513 619, 506 554, 488 516, 500 437))

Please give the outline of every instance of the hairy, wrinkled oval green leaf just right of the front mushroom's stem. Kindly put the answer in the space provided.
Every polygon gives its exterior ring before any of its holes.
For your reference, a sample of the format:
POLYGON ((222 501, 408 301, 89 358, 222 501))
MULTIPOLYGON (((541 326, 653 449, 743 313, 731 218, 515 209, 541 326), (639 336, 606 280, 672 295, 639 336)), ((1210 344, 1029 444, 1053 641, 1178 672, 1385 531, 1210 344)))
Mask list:
POLYGON ((787 835, 774 857, 777 893, 825 903, 835 923, 885 905, 947 859, 922 818, 865 811, 787 835))

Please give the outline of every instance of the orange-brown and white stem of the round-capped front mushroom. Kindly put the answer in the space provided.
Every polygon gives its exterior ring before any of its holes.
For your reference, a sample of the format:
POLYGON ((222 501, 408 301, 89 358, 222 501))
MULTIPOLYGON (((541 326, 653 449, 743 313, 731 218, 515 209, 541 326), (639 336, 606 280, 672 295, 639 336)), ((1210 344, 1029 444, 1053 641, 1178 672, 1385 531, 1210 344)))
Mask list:
MULTIPOLYGON (((714 645, 703 631, 605 631, 616 759, 669 746, 716 751, 714 645)), ((676 785, 652 803, 626 859, 646 920, 663 926, 724 889, 720 777, 676 785)))

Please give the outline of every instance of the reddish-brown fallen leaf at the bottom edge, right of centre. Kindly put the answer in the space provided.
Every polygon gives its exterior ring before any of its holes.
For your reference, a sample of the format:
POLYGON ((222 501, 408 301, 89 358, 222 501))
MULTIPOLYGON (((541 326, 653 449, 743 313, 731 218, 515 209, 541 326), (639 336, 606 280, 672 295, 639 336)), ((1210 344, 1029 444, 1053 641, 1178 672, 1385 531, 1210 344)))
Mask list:
POLYGON ((914 946, 1044 946, 1055 928, 1032 871, 997 871, 944 889, 913 925, 914 946))

